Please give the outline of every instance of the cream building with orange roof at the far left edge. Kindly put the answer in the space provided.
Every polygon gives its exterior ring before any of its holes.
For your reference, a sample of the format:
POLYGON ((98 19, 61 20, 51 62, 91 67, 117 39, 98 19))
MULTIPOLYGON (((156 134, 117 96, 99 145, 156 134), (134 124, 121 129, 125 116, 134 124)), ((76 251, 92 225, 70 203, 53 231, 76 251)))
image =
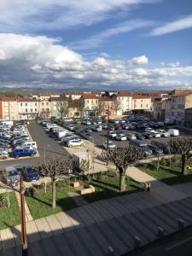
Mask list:
POLYGON ((18 106, 15 97, 2 97, 0 99, 0 119, 16 120, 18 119, 18 106))

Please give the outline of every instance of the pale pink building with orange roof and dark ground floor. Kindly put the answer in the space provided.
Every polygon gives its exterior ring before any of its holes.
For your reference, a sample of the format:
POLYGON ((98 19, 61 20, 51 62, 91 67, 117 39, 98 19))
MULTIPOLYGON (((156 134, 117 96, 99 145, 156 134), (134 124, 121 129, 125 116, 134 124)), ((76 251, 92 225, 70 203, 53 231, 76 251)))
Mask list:
POLYGON ((151 97, 140 94, 133 94, 132 111, 134 113, 151 112, 151 97))

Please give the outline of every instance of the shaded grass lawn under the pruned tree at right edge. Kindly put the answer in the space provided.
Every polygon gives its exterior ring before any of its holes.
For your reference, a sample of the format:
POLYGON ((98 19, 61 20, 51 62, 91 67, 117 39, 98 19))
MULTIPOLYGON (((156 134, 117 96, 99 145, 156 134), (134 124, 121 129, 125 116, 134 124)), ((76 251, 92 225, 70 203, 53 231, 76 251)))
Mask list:
POLYGON ((155 177, 167 185, 174 185, 178 183, 192 182, 192 170, 188 171, 185 176, 181 174, 180 166, 160 166, 159 171, 156 171, 157 161, 138 165, 137 167, 150 176, 155 177))

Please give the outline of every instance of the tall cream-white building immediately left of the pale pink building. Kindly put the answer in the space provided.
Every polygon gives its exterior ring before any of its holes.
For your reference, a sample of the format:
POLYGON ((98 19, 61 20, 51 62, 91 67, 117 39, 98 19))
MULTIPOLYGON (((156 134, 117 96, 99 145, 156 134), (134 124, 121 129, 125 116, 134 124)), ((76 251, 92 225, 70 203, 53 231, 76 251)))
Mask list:
POLYGON ((127 114, 131 112, 132 109, 132 96, 131 94, 127 92, 118 92, 115 94, 117 97, 116 103, 117 104, 117 114, 122 115, 122 114, 127 114))

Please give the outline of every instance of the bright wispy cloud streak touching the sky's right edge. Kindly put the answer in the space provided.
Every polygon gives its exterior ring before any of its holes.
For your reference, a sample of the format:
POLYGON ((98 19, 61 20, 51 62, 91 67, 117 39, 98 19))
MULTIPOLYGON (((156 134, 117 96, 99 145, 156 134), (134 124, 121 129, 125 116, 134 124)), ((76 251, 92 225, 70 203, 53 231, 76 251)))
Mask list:
POLYGON ((192 15, 189 15, 180 20, 174 20, 172 22, 166 23, 163 26, 158 26, 154 28, 149 35, 150 36, 161 36, 172 32, 177 32, 183 29, 192 27, 192 15))

